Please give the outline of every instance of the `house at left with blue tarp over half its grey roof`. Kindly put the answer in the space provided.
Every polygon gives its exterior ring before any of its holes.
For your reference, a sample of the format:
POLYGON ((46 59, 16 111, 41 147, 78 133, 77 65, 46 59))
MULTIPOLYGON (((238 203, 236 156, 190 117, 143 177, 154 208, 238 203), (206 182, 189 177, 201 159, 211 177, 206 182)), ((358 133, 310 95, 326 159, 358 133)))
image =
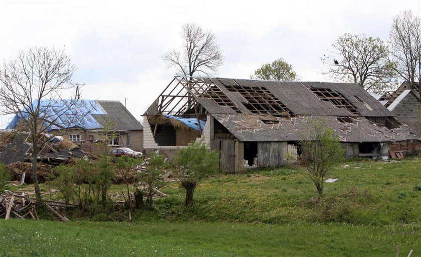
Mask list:
MULTIPOLYGON (((120 101, 80 99, 71 104, 72 108, 66 108, 70 106, 68 101, 41 101, 40 118, 48 132, 65 130, 65 137, 80 142, 101 139, 106 128, 110 131, 110 147, 143 150, 143 126, 120 101)), ((27 115, 25 111, 15 115, 7 128, 17 128, 27 115)))

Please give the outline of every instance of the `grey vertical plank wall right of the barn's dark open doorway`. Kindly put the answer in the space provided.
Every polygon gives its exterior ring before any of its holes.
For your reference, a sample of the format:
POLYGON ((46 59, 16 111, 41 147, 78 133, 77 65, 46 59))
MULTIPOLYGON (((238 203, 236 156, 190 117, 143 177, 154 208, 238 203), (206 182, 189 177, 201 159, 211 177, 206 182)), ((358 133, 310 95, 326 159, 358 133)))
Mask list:
POLYGON ((279 167, 286 164, 288 143, 281 142, 258 142, 257 161, 259 167, 279 167))

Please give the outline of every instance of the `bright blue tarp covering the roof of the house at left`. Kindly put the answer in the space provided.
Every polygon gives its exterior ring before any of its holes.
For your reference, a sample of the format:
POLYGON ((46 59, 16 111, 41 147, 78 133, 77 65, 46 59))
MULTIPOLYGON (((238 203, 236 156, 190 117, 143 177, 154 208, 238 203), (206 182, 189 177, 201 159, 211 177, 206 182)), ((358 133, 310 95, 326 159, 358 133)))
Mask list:
MULTIPOLYGON (((36 106, 38 100, 33 105, 36 106)), ((107 114, 95 100, 67 100, 67 99, 42 99, 40 104, 41 114, 46 121, 48 131, 61 127, 82 127, 85 129, 103 128, 92 116, 93 114, 107 114)), ((8 129, 16 128, 22 118, 28 117, 28 111, 22 110, 15 115, 7 126, 8 129)))

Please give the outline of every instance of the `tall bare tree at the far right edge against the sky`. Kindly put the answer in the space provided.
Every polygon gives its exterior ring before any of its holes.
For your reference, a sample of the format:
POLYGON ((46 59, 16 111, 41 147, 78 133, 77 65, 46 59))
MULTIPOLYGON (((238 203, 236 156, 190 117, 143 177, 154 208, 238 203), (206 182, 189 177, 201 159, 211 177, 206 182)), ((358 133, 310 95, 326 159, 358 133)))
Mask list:
POLYGON ((408 10, 393 18, 389 33, 390 59, 396 63, 397 76, 408 81, 411 88, 416 80, 421 81, 420 29, 420 18, 408 10))

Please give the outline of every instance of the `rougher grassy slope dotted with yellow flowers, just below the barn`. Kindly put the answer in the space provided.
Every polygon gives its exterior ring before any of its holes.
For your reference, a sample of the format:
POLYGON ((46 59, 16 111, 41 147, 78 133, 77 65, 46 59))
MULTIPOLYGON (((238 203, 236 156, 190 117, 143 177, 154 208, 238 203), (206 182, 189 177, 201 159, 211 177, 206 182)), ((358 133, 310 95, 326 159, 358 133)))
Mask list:
POLYGON ((170 197, 156 202, 156 215, 166 220, 272 224, 421 224, 421 159, 347 161, 329 177, 339 179, 324 183, 325 204, 315 204, 315 186, 299 168, 218 175, 197 186, 196 206, 188 211, 182 207, 184 192, 170 184, 162 188, 170 197))

